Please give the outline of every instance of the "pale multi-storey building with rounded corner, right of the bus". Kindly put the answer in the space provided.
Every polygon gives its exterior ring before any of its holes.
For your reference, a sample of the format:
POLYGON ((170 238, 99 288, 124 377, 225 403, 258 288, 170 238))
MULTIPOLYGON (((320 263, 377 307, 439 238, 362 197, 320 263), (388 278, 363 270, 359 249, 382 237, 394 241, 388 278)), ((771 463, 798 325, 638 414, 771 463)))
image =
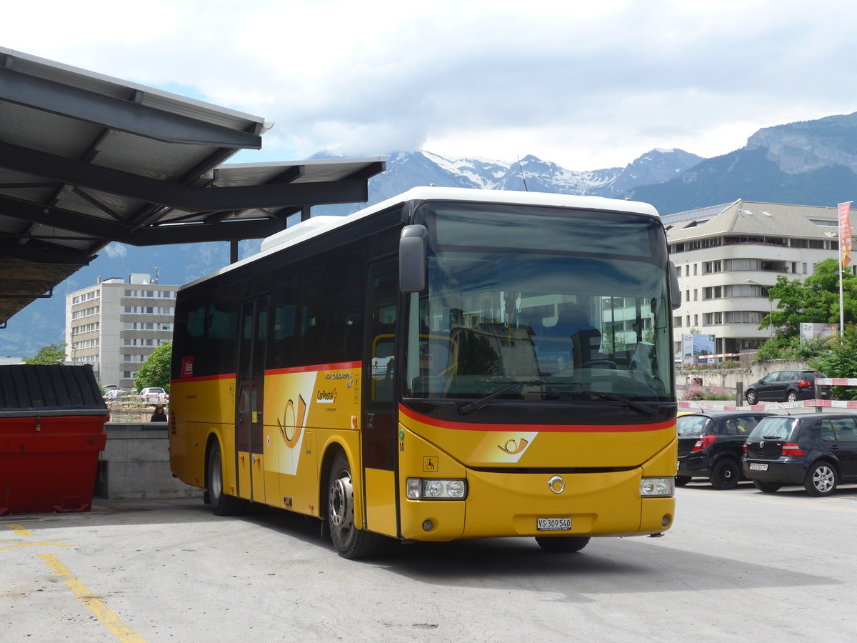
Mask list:
POLYGON ((758 325, 776 309, 768 298, 776 278, 806 279, 820 261, 838 256, 836 207, 739 199, 661 219, 681 289, 676 355, 692 329, 715 335, 718 354, 757 349, 771 334, 758 325))

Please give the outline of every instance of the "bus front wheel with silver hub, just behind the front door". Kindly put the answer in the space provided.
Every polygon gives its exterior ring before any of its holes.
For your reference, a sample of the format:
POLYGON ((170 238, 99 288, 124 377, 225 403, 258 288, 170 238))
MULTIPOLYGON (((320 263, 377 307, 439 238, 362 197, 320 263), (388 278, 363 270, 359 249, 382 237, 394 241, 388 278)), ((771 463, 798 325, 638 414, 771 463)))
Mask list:
POLYGON ((367 558, 381 547, 379 534, 358 529, 355 524, 351 464, 341 451, 333 458, 328 478, 327 522, 333 547, 343 558, 367 558))

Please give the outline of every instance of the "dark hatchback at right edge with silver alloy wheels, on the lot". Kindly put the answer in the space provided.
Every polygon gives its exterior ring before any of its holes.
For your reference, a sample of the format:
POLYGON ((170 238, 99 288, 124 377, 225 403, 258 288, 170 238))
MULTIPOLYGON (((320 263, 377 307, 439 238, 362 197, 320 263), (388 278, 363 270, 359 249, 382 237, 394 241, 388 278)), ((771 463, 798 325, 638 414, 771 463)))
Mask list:
POLYGON ((811 496, 830 496, 836 484, 857 482, 857 416, 764 418, 747 438, 741 466, 759 490, 803 484, 811 496))

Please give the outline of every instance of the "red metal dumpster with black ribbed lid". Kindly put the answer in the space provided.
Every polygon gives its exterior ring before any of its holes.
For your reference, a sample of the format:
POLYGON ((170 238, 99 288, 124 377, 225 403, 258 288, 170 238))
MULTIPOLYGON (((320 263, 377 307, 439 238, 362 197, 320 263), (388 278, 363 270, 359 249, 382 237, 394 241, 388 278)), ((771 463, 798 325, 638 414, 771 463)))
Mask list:
POLYGON ((88 364, 0 366, 0 515, 88 511, 108 417, 88 364))

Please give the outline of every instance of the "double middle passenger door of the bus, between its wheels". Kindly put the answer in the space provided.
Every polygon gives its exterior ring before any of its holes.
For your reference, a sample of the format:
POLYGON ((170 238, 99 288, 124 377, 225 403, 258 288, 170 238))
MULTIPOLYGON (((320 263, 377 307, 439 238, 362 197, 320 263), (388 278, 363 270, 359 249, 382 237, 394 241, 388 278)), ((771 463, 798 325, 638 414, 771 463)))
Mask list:
POLYGON ((265 346, 268 298, 241 304, 235 430, 238 496, 265 502, 262 409, 264 408, 265 346))

